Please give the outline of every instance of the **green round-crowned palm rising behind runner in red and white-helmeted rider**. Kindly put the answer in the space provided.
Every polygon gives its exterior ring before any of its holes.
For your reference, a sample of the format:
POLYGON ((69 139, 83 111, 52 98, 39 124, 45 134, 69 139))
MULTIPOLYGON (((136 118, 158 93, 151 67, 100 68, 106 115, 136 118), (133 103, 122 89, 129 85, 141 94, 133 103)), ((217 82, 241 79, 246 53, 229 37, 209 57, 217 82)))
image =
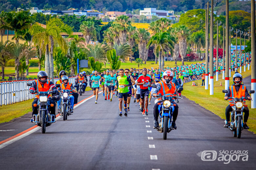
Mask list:
POLYGON ((164 56, 163 55, 161 56, 161 61, 160 61, 160 54, 163 53, 164 50, 170 51, 171 54, 173 54, 175 42, 176 42, 175 37, 172 36, 169 31, 158 32, 150 38, 147 44, 147 48, 149 48, 150 45, 155 44, 155 46, 157 46, 157 48, 159 49, 159 68, 163 68, 164 66, 164 56))

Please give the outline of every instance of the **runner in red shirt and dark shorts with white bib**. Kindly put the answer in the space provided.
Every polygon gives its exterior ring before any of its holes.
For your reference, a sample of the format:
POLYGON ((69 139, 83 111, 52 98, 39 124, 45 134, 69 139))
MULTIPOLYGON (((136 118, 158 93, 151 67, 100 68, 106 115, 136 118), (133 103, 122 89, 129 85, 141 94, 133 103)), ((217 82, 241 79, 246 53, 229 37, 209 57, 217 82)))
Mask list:
POLYGON ((148 115, 148 95, 149 89, 148 87, 151 86, 151 78, 147 76, 147 70, 143 69, 142 76, 139 76, 136 85, 140 86, 140 99, 141 99, 141 108, 144 108, 144 101, 145 101, 145 109, 143 109, 142 114, 148 115))

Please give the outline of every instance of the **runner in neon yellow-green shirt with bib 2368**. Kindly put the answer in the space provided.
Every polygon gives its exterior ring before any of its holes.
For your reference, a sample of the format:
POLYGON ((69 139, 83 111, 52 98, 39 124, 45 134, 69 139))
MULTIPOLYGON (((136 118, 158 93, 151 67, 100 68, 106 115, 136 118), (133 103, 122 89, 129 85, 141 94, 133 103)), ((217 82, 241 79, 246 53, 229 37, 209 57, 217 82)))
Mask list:
POLYGON ((124 76, 124 70, 119 69, 120 76, 117 76, 117 84, 115 88, 118 88, 118 100, 119 100, 119 116, 122 116, 122 103, 124 100, 124 115, 127 116, 127 97, 128 97, 128 86, 132 85, 131 80, 129 77, 124 76))

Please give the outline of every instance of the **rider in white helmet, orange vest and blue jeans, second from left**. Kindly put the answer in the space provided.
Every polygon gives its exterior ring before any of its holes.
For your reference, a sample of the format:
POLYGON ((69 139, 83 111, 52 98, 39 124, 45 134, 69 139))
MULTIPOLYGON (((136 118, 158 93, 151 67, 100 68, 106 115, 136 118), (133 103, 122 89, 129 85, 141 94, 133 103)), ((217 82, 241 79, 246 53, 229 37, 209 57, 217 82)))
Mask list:
MULTIPOLYGON (((61 80, 62 80, 62 83, 60 84, 60 89, 59 89, 60 91, 61 90, 70 90, 70 91, 75 90, 75 87, 73 86, 73 84, 69 82, 68 76, 62 76, 61 80)), ((74 93, 74 92, 72 92, 72 93, 74 93)), ((72 95, 72 93, 70 94, 70 105, 72 106, 72 113, 73 113, 74 96, 72 95)), ((61 99, 57 101, 57 105, 58 105, 57 108, 59 108, 60 102, 61 102, 61 99)))

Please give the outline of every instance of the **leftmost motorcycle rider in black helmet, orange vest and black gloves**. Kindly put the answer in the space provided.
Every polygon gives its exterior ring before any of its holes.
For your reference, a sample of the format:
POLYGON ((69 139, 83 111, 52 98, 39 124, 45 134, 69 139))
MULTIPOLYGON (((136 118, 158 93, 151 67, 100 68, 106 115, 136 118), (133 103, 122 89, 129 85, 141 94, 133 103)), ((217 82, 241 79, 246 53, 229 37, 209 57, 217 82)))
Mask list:
MULTIPOLYGON (((37 80, 32 81, 32 86, 30 87, 29 92, 32 94, 35 94, 35 90, 37 92, 53 91, 56 94, 58 94, 59 92, 57 91, 54 83, 52 81, 47 80, 47 78, 48 78, 48 74, 45 71, 39 71, 37 73, 37 80)), ((48 97, 50 97, 50 96, 51 96, 51 94, 48 95, 48 97)), ((34 107, 34 104, 37 104, 38 99, 39 99, 39 95, 36 95, 34 101, 32 102, 32 116, 34 114, 38 114, 38 110, 37 110, 38 106, 34 107)), ((58 101, 59 99, 60 99, 59 94, 54 95, 50 99, 50 104, 53 104, 53 107, 49 107, 51 114, 55 115, 55 106, 56 106, 55 101, 58 101)), ((33 118, 30 120, 30 122, 33 122, 33 118)))

